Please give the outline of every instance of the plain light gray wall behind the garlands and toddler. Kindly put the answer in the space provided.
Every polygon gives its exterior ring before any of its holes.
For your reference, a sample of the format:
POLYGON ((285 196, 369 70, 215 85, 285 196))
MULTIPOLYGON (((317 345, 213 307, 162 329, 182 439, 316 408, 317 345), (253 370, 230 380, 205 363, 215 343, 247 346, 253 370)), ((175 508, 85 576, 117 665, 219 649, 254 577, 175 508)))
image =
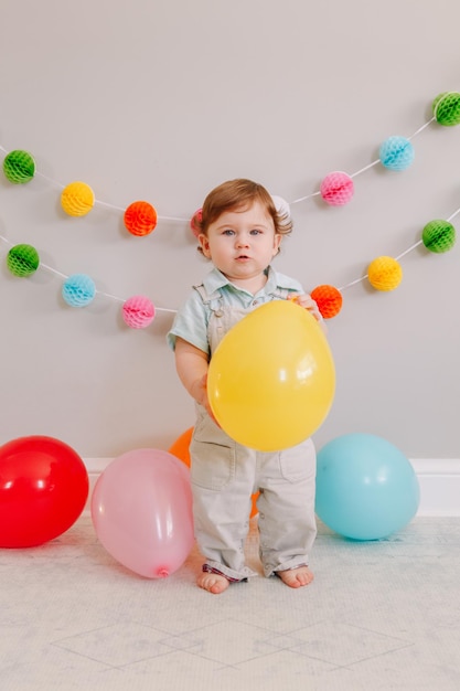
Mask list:
MULTIPOLYGON (((100 293, 174 309, 208 266, 185 221, 137 238, 120 209, 147 200, 189 219, 229 178, 293 201, 333 170, 360 170, 460 88, 459 20, 454 0, 2 0, 0 143, 33 153, 41 176, 1 180, 0 234, 65 275, 88 274, 99 294, 67 307, 58 276, 13 277, 0 243, 0 442, 45 434, 85 457, 168 448, 193 424, 164 342, 172 316, 130 330, 100 293), (75 180, 108 205, 67 216, 58 185, 75 180)), ((453 213, 460 127, 431 125, 414 146, 408 170, 359 176, 346 206, 292 205, 278 268, 307 289, 341 287, 453 213)), ((336 397, 318 446, 368 432, 413 458, 460 458, 459 251, 410 252, 393 293, 344 290, 329 321, 336 397)))

